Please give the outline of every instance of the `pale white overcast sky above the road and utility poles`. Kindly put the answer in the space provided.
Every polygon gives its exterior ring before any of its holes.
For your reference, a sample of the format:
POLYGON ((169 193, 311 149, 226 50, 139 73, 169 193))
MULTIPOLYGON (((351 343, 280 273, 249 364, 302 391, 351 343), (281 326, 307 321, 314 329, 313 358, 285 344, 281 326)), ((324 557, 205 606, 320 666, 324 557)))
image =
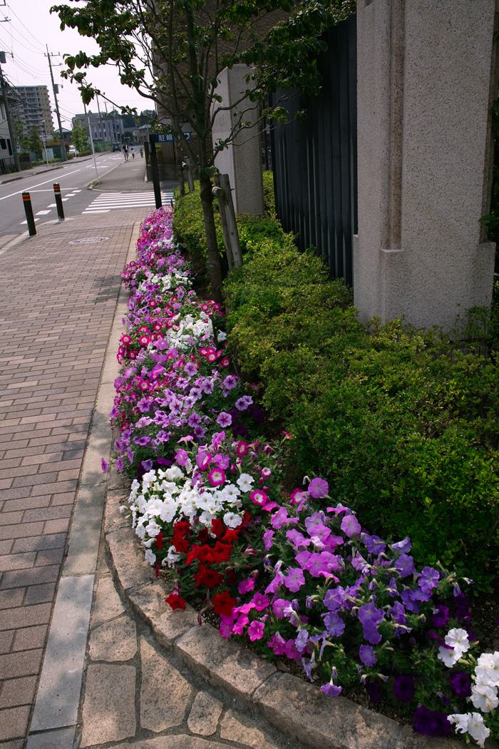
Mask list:
MULTIPOLYGON (((49 52, 60 53, 53 57, 54 80, 59 84, 58 103, 61 112, 62 126, 71 128, 71 118, 83 112, 82 99, 76 84, 64 81, 59 75, 61 67, 54 67, 63 61, 64 53, 74 54, 82 49, 89 54, 98 51, 97 43, 87 37, 81 37, 73 28, 61 31, 56 13, 49 13, 54 4, 63 4, 64 0, 0 0, 0 50, 7 53, 6 63, 1 66, 4 75, 12 85, 33 86, 46 85, 52 109, 55 108, 50 81, 49 62, 44 56, 46 44, 49 52), (6 4, 2 4, 5 2, 6 4), (4 22, 3 19, 10 19, 4 22), (13 58, 10 56, 13 54, 13 58), (61 88, 61 86, 63 88, 61 88)), ((67 3, 75 7, 76 3, 67 3)), ((79 4, 79 3, 78 3, 79 4)), ((140 97, 127 86, 122 86, 114 66, 91 68, 88 79, 97 85, 111 100, 120 106, 136 106, 142 109, 154 109, 153 104, 140 97)), ((100 99, 101 112, 105 104, 100 99)), ((95 100, 90 105, 92 112, 97 112, 95 100)), ((108 110, 112 106, 108 103, 108 110)), ((57 129, 57 118, 53 115, 57 129)))

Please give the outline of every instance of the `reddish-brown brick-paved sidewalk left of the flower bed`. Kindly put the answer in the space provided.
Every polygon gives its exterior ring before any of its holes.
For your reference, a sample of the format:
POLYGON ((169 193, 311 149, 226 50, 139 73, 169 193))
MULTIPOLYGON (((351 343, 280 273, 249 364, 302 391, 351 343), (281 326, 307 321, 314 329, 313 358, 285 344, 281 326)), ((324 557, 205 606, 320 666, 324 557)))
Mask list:
POLYGON ((42 225, 0 256, 1 749, 25 742, 120 271, 147 213, 42 225))

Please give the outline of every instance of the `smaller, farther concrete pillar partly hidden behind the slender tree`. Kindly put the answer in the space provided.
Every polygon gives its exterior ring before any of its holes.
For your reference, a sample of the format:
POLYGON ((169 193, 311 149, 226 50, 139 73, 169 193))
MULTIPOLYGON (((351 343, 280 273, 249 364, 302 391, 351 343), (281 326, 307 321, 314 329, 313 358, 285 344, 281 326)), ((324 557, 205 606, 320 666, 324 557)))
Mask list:
POLYGON ((216 115, 212 129, 213 144, 230 136, 237 112, 244 112, 242 119, 251 122, 253 127, 239 132, 233 143, 215 158, 215 166, 222 175, 229 175, 236 213, 263 213, 260 130, 256 125, 258 109, 248 99, 239 101, 248 88, 245 81, 248 72, 246 65, 237 64, 231 70, 224 68, 218 76, 216 91, 222 97, 222 102, 215 102, 214 106, 229 106, 233 109, 224 109, 216 115))

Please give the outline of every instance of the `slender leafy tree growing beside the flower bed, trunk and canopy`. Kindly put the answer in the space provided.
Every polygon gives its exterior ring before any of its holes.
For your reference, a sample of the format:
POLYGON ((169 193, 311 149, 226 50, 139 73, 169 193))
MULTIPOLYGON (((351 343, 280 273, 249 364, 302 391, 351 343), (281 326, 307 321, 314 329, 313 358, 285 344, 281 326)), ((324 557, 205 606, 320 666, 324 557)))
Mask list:
MULTIPOLYGON (((213 219, 214 159, 248 127, 248 109, 285 119, 281 106, 265 106, 269 93, 320 89, 316 58, 326 45, 322 31, 355 12, 355 0, 89 0, 84 7, 55 5, 61 28, 76 28, 100 46, 98 55, 65 55, 63 77, 79 83, 89 103, 101 94, 87 80, 91 67, 112 62, 121 82, 157 103, 170 119, 170 132, 183 142, 198 172, 208 250, 211 295, 221 299, 221 267, 213 219), (218 76, 225 67, 246 64, 247 89, 232 109, 227 139, 206 148, 215 117, 222 112, 218 76), (183 136, 187 126, 196 152, 183 136)), ((102 95, 102 94, 101 94, 102 95)), ((122 108, 125 112, 126 108, 122 108)))

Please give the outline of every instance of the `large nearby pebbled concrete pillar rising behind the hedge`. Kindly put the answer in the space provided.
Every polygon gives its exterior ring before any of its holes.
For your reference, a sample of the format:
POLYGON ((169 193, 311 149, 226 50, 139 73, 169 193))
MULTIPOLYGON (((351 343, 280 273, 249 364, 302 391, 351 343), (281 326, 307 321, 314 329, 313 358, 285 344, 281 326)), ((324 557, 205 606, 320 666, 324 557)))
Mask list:
POLYGON ((491 303, 497 0, 358 0, 358 237, 363 321, 450 330, 491 303))

